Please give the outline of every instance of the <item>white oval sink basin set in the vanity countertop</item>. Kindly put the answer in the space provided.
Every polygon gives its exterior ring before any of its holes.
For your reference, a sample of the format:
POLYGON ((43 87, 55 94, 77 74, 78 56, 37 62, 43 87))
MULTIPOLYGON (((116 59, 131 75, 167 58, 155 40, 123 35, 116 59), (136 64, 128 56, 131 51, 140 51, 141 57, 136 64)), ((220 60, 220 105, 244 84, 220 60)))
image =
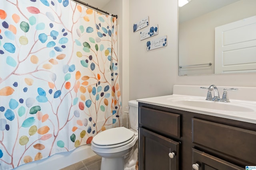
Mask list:
POLYGON ((192 107, 200 107, 205 109, 217 109, 223 111, 242 111, 242 112, 252 112, 254 109, 251 109, 249 106, 242 106, 241 103, 224 103, 224 102, 214 102, 208 100, 200 100, 200 99, 173 99, 172 102, 175 104, 192 106, 192 107), (240 106, 239 106, 240 105, 240 106))

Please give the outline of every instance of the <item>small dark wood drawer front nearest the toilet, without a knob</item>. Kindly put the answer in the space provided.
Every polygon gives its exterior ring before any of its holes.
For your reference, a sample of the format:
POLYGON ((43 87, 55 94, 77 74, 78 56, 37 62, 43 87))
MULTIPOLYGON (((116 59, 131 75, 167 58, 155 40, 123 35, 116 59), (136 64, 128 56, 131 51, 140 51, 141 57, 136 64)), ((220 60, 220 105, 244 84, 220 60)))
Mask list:
POLYGON ((180 137, 180 115, 140 107, 139 123, 142 127, 148 127, 156 132, 180 137))

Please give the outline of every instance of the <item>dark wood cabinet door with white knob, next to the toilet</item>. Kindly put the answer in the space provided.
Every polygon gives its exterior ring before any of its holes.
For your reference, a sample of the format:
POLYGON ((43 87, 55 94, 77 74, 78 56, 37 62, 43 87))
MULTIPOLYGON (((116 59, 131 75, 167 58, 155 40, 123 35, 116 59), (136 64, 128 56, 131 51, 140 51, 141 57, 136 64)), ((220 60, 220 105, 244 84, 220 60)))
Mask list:
POLYGON ((179 143, 171 139, 139 129, 139 169, 178 170, 179 143), (169 156, 170 155, 170 156, 169 156))

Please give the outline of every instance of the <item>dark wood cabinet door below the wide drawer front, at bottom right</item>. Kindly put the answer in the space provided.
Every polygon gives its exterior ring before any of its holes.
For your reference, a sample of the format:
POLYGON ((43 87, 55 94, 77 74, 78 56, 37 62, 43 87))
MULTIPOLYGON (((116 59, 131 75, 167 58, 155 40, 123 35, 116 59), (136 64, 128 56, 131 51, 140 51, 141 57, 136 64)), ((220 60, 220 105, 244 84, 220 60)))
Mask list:
POLYGON ((192 149, 192 152, 193 152, 193 163, 194 163, 192 167, 194 170, 244 170, 245 169, 196 149, 192 149), (199 166, 199 167, 197 168, 196 166, 199 166))

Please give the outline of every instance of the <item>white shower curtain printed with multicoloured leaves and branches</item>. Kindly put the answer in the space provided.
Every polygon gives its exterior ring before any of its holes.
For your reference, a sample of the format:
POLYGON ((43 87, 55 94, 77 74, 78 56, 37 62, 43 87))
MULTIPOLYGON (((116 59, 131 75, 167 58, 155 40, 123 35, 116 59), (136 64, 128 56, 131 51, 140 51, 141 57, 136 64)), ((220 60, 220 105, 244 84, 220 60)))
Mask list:
POLYGON ((1 0, 0 169, 122 126, 116 18, 71 0, 1 0))

